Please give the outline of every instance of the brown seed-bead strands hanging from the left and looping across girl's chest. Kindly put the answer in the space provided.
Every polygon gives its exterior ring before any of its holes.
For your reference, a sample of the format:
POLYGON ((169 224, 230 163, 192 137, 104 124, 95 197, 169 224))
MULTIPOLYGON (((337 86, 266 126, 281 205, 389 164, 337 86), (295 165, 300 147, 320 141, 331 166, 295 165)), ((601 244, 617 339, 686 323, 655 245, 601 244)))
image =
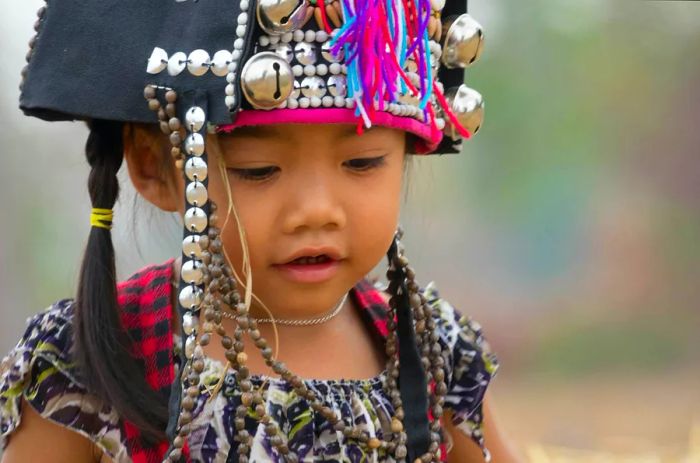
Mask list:
MULTIPOLYGON (((212 210, 216 210, 214 204, 211 206, 212 210)), ((212 218, 215 216, 216 214, 213 214, 212 218)), ((240 403, 236 407, 236 416, 234 418, 234 426, 236 428, 235 440, 238 442, 236 448, 238 461, 240 463, 247 463, 249 461, 249 453, 253 445, 253 436, 246 430, 247 417, 253 417, 256 421, 264 425, 265 434, 267 439, 269 439, 269 443, 285 461, 299 461, 299 456, 291 451, 288 443, 285 442, 284 436, 280 433, 278 423, 275 423, 267 413, 264 391, 253 387, 250 380, 250 371, 246 366, 248 356, 245 352, 244 334, 247 334, 250 339, 252 339, 265 360, 265 363, 282 379, 287 381, 297 395, 305 398, 315 413, 321 414, 329 421, 336 431, 342 432, 346 439, 361 443, 368 452, 381 450, 385 454, 393 454, 396 461, 405 461, 406 434, 401 422, 403 418, 403 409, 396 381, 398 378, 399 365, 396 349, 395 324, 393 321, 389 324, 390 332, 386 344, 388 372, 386 387, 389 396, 392 398, 392 403, 396 412, 395 417, 390 420, 390 429, 387 430, 390 434, 390 439, 379 439, 377 436, 370 435, 369 432, 359 426, 354 426, 352 423, 348 424, 342 421, 330 407, 323 404, 321 400, 316 397, 316 394, 306 386, 305 382, 300 377, 290 372, 284 363, 274 358, 273 351, 269 347, 267 340, 258 330, 257 322, 250 316, 248 308, 242 303, 240 294, 237 291, 235 277, 223 255, 220 237, 221 231, 214 225, 214 220, 212 220, 211 223, 212 226, 209 228, 208 237, 204 240, 200 240, 199 243, 200 247, 203 248, 202 261, 204 263, 204 279, 208 282, 207 293, 204 296, 204 301, 201 306, 205 316, 203 326, 205 331, 215 329, 221 336, 221 344, 225 349, 226 359, 234 371, 234 377, 236 378, 238 390, 240 392, 240 403), (236 327, 233 337, 229 337, 221 325, 221 310, 224 304, 233 308, 236 313, 236 327), (207 327, 207 325, 209 325, 209 327, 207 327)), ((391 316, 389 318, 393 320, 391 316)), ((209 341, 208 335, 206 333, 203 334, 200 343, 207 344, 209 341)), ((431 449, 433 448, 437 449, 437 445, 431 446, 431 449)), ((434 461, 431 458, 423 458, 421 461, 434 461)))

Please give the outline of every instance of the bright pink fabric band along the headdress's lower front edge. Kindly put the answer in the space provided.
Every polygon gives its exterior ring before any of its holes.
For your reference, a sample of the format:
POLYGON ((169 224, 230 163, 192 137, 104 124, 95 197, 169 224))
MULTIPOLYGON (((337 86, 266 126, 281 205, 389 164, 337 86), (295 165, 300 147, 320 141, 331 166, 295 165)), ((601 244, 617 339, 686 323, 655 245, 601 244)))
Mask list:
MULTIPOLYGON (((357 124, 357 121, 355 110, 347 108, 242 110, 238 113, 235 122, 218 126, 217 132, 229 133, 238 127, 252 125, 357 124)), ((420 143, 414 147, 416 154, 425 154, 435 150, 442 140, 442 132, 436 127, 411 117, 394 116, 384 111, 377 111, 372 122, 382 127, 403 130, 420 137, 420 143)))

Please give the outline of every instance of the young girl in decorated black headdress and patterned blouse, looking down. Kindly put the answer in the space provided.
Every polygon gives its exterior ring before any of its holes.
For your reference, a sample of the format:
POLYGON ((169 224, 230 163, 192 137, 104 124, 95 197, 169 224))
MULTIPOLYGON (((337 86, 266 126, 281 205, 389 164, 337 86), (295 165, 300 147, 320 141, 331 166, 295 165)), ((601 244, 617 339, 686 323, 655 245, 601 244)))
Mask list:
POLYGON ((514 461, 484 401, 493 354, 397 232, 406 153, 456 152, 480 124, 465 7, 40 10, 21 107, 88 121, 92 229, 75 299, 2 363, 3 463, 514 461), (124 161, 184 237, 117 283, 124 161))

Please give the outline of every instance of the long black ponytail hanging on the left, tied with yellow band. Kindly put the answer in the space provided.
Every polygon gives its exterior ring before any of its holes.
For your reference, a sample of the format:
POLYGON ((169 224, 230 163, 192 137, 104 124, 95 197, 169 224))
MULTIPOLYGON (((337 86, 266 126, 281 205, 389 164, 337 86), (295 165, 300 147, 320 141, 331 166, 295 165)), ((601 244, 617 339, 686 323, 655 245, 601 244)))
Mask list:
MULTIPOLYGON (((119 195, 123 123, 94 119, 85 157, 92 207, 112 209, 119 195)), ((165 439, 167 401, 146 382, 143 362, 131 352, 117 303, 110 230, 92 227, 80 269, 74 321, 75 359, 88 390, 137 426, 146 442, 165 439)))

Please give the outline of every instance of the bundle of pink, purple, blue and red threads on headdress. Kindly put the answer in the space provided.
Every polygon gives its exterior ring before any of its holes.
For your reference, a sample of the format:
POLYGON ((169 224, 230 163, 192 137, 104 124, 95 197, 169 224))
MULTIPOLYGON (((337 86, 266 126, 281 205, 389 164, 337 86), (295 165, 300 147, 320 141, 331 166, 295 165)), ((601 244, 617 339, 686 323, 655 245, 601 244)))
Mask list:
POLYGON ((469 132, 453 114, 439 88, 433 83, 428 22, 430 0, 342 0, 345 23, 331 40, 331 51, 345 54, 348 96, 355 100, 361 118, 358 133, 371 127, 377 110, 399 101, 410 92, 418 98, 423 118, 439 131, 429 104, 433 91, 450 122, 465 138, 469 132), (416 63, 416 88, 404 71, 406 61, 416 63))

